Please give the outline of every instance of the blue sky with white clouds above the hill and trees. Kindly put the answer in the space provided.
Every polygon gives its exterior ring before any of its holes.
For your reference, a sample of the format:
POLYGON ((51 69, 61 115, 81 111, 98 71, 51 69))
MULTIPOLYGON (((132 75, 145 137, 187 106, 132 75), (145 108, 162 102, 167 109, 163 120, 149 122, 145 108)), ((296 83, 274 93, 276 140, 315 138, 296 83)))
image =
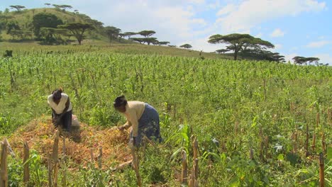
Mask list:
POLYGON ((172 45, 189 43, 212 52, 223 45, 207 42, 214 34, 249 33, 275 45, 287 59, 319 57, 332 65, 331 0, 1 0, 10 5, 45 7, 68 4, 80 13, 123 32, 155 30, 172 45))

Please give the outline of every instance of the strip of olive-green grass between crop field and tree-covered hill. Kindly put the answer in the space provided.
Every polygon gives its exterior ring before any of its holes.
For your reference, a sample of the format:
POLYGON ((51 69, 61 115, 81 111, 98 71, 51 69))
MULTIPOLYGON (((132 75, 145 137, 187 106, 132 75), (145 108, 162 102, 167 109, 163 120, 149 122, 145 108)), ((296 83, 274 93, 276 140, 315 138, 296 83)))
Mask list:
POLYGON ((116 52, 131 55, 167 55, 175 57, 194 57, 199 59, 233 59, 231 55, 185 50, 177 47, 159 45, 141 45, 138 43, 109 43, 104 40, 84 40, 82 46, 78 45, 39 45, 38 42, 0 42, 1 55, 5 50, 13 50, 13 55, 26 53, 45 54, 53 52, 116 52))

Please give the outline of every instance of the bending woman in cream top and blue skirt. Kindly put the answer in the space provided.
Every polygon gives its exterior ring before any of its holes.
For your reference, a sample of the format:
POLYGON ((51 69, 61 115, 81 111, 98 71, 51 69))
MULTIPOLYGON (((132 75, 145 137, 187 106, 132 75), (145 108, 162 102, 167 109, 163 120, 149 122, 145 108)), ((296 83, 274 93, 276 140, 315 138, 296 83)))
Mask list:
POLYGON ((114 103, 116 111, 126 115, 127 122, 118 129, 124 130, 133 126, 130 144, 140 147, 144 136, 149 140, 162 142, 159 126, 159 114, 148 103, 141 101, 127 101, 125 96, 118 96, 114 103))

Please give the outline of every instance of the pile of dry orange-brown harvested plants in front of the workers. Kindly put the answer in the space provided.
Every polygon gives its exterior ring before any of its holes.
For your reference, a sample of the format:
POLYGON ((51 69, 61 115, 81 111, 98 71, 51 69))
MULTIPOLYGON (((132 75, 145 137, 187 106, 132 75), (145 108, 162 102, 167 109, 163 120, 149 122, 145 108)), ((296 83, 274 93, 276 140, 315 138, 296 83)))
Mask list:
MULTIPOLYGON (((8 137, 8 140, 13 152, 18 157, 23 158, 23 142, 28 142, 30 149, 35 149, 45 161, 48 154, 52 153, 55 132, 50 116, 45 116, 19 128, 8 137)), ((65 138, 65 154, 67 158, 74 162, 74 165, 85 165, 90 162, 91 149, 96 161, 99 155, 99 147, 102 147, 101 161, 105 166, 131 159, 131 153, 127 146, 129 138, 127 131, 122 132, 116 128, 97 130, 94 127, 80 123, 79 126, 73 126, 70 133, 61 132, 59 141, 60 158, 62 157, 63 138, 65 138)))

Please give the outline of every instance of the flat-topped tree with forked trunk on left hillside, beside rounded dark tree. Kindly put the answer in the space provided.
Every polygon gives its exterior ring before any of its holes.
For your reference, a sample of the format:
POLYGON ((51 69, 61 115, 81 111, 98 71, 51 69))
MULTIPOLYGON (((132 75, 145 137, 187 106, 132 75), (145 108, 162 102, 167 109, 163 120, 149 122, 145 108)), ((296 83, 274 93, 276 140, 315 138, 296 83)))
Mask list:
POLYGON ((94 29, 94 27, 88 23, 67 23, 65 25, 57 26, 57 28, 70 30, 77 42, 79 42, 79 45, 81 45, 81 42, 84 39, 84 32, 88 29, 94 29))

